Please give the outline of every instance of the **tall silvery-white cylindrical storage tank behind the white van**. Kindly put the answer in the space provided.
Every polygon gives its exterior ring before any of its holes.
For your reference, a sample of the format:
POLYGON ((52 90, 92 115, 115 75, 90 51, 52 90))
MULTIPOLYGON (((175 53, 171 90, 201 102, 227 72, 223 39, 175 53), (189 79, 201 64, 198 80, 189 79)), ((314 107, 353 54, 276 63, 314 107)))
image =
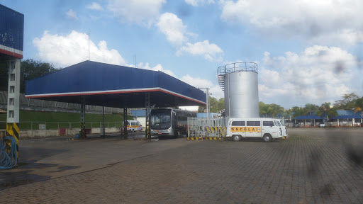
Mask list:
MULTIPOLYGON (((221 67, 220 67, 221 68, 221 67)), ((225 116, 259 118, 257 64, 237 62, 227 64, 218 73, 225 96, 225 116)))

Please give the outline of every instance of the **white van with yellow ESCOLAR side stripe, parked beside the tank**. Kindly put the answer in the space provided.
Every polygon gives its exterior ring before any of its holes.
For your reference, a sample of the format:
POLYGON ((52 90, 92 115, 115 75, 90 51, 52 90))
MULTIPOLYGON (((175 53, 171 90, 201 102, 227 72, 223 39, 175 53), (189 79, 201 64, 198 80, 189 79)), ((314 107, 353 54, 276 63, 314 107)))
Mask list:
POLYGON ((227 135, 234 141, 242 138, 262 138, 264 142, 287 136, 287 130, 274 118, 231 118, 228 120, 227 135))

